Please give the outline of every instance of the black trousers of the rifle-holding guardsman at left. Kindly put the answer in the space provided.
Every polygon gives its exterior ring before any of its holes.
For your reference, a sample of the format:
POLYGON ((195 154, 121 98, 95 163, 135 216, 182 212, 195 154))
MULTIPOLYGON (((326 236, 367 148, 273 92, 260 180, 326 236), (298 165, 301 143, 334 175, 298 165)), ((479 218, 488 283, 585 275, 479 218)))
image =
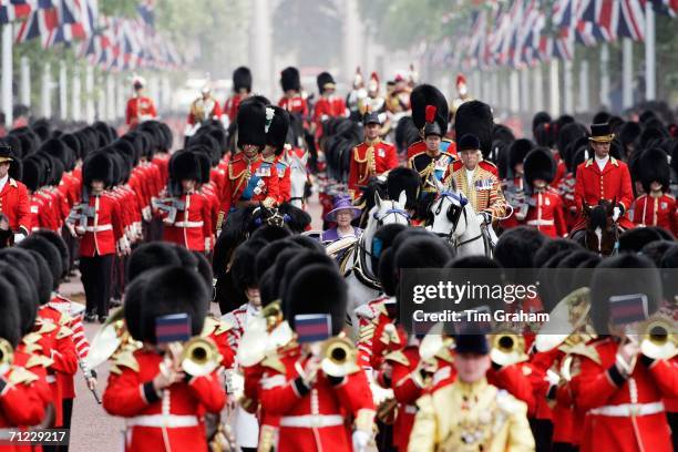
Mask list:
POLYGON ((85 307, 89 314, 109 315, 113 258, 115 255, 80 257, 80 273, 85 289, 85 307))

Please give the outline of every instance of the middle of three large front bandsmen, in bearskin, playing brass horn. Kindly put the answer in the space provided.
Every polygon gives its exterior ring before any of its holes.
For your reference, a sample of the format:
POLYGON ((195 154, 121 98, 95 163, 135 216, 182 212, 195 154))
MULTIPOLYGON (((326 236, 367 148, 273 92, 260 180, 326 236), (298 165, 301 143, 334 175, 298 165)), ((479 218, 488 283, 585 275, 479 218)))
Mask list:
POLYGON ((340 335, 347 286, 336 268, 302 268, 288 282, 285 317, 301 346, 270 357, 261 378, 261 405, 280 417, 276 450, 364 451, 372 439, 374 404, 355 346, 340 335), (326 296, 318 298, 318 294, 326 296), (347 352, 342 363, 326 358, 327 347, 347 352), (352 425, 352 428, 348 428, 352 425))

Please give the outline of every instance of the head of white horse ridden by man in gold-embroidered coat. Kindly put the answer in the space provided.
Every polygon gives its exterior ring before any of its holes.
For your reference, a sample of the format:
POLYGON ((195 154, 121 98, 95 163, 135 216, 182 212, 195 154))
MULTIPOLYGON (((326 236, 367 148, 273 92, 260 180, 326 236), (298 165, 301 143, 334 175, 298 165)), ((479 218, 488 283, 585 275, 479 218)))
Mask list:
POLYGON ((445 237, 455 256, 492 256, 486 232, 483 232, 473 206, 461 192, 439 185, 438 197, 429 212, 433 220, 427 229, 445 237))

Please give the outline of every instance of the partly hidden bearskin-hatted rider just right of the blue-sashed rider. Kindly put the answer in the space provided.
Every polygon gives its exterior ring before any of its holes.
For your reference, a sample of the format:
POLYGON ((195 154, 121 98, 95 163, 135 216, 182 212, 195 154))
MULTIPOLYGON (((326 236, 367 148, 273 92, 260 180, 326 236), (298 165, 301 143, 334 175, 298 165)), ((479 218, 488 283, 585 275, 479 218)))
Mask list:
POLYGON ((278 173, 278 204, 289 203, 291 198, 291 167, 285 161, 287 131, 289 129, 289 113, 275 105, 266 107, 266 146, 261 151, 261 157, 267 162, 274 162, 278 173), (270 120, 268 116, 273 117, 270 120))

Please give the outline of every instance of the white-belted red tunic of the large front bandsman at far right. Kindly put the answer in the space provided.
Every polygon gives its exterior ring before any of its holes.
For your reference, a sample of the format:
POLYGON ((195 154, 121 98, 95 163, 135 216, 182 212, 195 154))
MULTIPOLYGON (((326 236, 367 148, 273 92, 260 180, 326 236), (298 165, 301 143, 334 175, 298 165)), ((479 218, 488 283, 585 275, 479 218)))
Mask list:
POLYGON ((616 371, 618 343, 603 339, 593 343, 600 363, 582 358, 581 384, 575 394, 577 405, 586 414, 582 452, 588 451, 651 451, 669 452, 671 432, 666 419, 662 398, 678 394, 678 368, 665 360, 650 366, 638 362, 630 378, 624 379, 616 371), (624 405, 634 403, 654 413, 623 414, 624 405), (618 415, 613 410, 617 410, 618 415))

